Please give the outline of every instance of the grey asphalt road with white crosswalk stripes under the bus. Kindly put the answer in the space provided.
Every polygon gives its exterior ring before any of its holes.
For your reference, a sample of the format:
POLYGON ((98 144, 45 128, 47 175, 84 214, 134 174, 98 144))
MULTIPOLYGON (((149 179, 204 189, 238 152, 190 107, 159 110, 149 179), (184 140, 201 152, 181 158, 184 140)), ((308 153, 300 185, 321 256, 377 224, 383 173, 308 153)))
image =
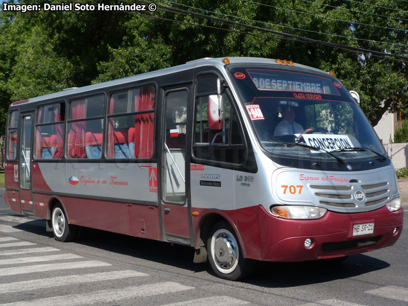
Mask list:
MULTIPOLYGON (((408 181, 399 184, 408 213, 408 181)), ((407 305, 407 258, 405 230, 394 246, 341 264, 259 263, 230 282, 194 264, 185 246, 95 230, 57 242, 44 220, 16 215, 0 199, 0 306, 407 305)))

